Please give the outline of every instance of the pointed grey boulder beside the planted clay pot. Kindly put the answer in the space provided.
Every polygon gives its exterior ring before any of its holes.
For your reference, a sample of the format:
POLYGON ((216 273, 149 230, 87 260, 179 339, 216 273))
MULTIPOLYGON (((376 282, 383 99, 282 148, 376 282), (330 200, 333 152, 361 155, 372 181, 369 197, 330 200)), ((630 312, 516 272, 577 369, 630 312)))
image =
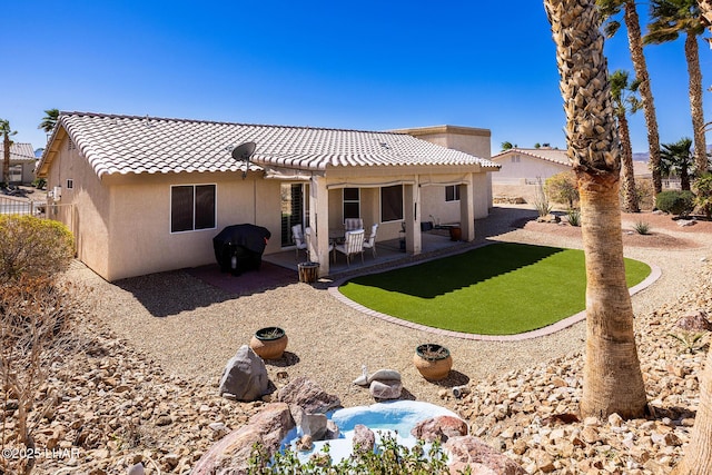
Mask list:
POLYGON ((243 345, 225 366, 220 395, 228 393, 238 400, 257 400, 267 394, 269 376, 263 358, 243 345))

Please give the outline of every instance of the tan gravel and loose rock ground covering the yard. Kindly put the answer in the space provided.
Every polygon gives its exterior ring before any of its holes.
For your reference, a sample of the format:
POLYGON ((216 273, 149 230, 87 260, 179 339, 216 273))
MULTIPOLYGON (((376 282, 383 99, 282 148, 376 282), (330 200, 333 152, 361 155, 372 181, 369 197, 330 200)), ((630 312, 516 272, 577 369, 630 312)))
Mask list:
MULTIPOLYGON (((478 224, 478 240, 581 248, 577 229, 517 227, 523 216, 532 211, 495 208, 478 224)), ((372 372, 393 368, 403 375, 404 398, 458 412, 473 433, 531 473, 665 473, 688 439, 704 359, 704 353, 681 350, 668 334, 691 309, 712 313, 712 228, 710 222, 679 228, 670 217, 652 214, 624 215, 623 221, 643 217, 653 232, 679 239, 676 247, 649 247, 646 236, 626 235, 632 236, 627 257, 662 269, 654 285, 633 297, 641 362, 659 415, 654 420, 545 423, 552 414, 575 412, 585 323, 535 339, 464 340, 364 315, 334 299, 326 285, 291 284, 236 297, 184 271, 131 279, 128 286, 106 283, 76 265, 69 277, 95 289, 95 311, 83 326, 95 350, 67 357, 46 388, 59 392, 61 403, 38 442, 55 437, 58 446, 81 452, 71 461, 41 461, 37 473, 67 465, 79 473, 126 473, 140 459, 156 461, 162 473, 187 472, 221 434, 220 424, 236 428, 263 404, 222 399, 216 386, 237 348, 255 329, 273 325, 289 335, 286 358, 267 365, 278 387, 305 375, 344 406, 370 404, 367 390, 352 380, 362 365, 372 372), (414 348, 424 342, 451 349, 447 379, 428 383, 413 367, 414 348), (449 389, 464 384, 472 394, 453 398, 449 389)))

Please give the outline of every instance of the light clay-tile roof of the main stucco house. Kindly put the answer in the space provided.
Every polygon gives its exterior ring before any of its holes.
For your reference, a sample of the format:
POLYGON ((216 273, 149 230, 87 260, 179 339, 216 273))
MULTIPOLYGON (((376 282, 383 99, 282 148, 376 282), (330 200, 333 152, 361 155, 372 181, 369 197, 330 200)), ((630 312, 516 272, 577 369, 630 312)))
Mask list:
MULTIPOLYGON (((325 170, 329 167, 481 166, 482 158, 405 133, 310 127, 210 122, 155 117, 61 112, 50 142, 65 129, 96 174, 237 171, 231 147, 257 144, 261 166, 325 170)), ((44 151, 38 169, 51 160, 44 151)), ((251 169, 260 169, 259 167, 251 169)))

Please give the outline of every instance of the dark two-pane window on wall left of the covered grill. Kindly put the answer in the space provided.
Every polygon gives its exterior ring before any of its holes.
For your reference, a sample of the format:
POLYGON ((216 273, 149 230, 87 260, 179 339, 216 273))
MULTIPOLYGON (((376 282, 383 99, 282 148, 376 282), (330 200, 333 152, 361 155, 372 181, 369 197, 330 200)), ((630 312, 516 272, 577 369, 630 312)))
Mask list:
POLYGON ((215 229, 215 185, 170 187, 170 231, 215 229))

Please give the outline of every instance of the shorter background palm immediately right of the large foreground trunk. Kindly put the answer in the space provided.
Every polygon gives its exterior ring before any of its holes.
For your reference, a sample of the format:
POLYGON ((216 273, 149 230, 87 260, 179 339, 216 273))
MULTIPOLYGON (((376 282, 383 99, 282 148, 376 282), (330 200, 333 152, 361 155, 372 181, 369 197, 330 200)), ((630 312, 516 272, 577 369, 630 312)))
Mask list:
POLYGON ((619 69, 613 72, 611 81, 611 99, 613 99, 613 115, 619 122, 619 138, 621 140, 621 161, 623 165, 623 195, 625 197, 625 210, 640 212, 637 192, 635 192, 635 177, 633 170, 633 148, 631 147, 631 132, 627 126, 627 113, 637 112, 642 103, 635 96, 640 82, 629 85, 627 71, 619 69))

